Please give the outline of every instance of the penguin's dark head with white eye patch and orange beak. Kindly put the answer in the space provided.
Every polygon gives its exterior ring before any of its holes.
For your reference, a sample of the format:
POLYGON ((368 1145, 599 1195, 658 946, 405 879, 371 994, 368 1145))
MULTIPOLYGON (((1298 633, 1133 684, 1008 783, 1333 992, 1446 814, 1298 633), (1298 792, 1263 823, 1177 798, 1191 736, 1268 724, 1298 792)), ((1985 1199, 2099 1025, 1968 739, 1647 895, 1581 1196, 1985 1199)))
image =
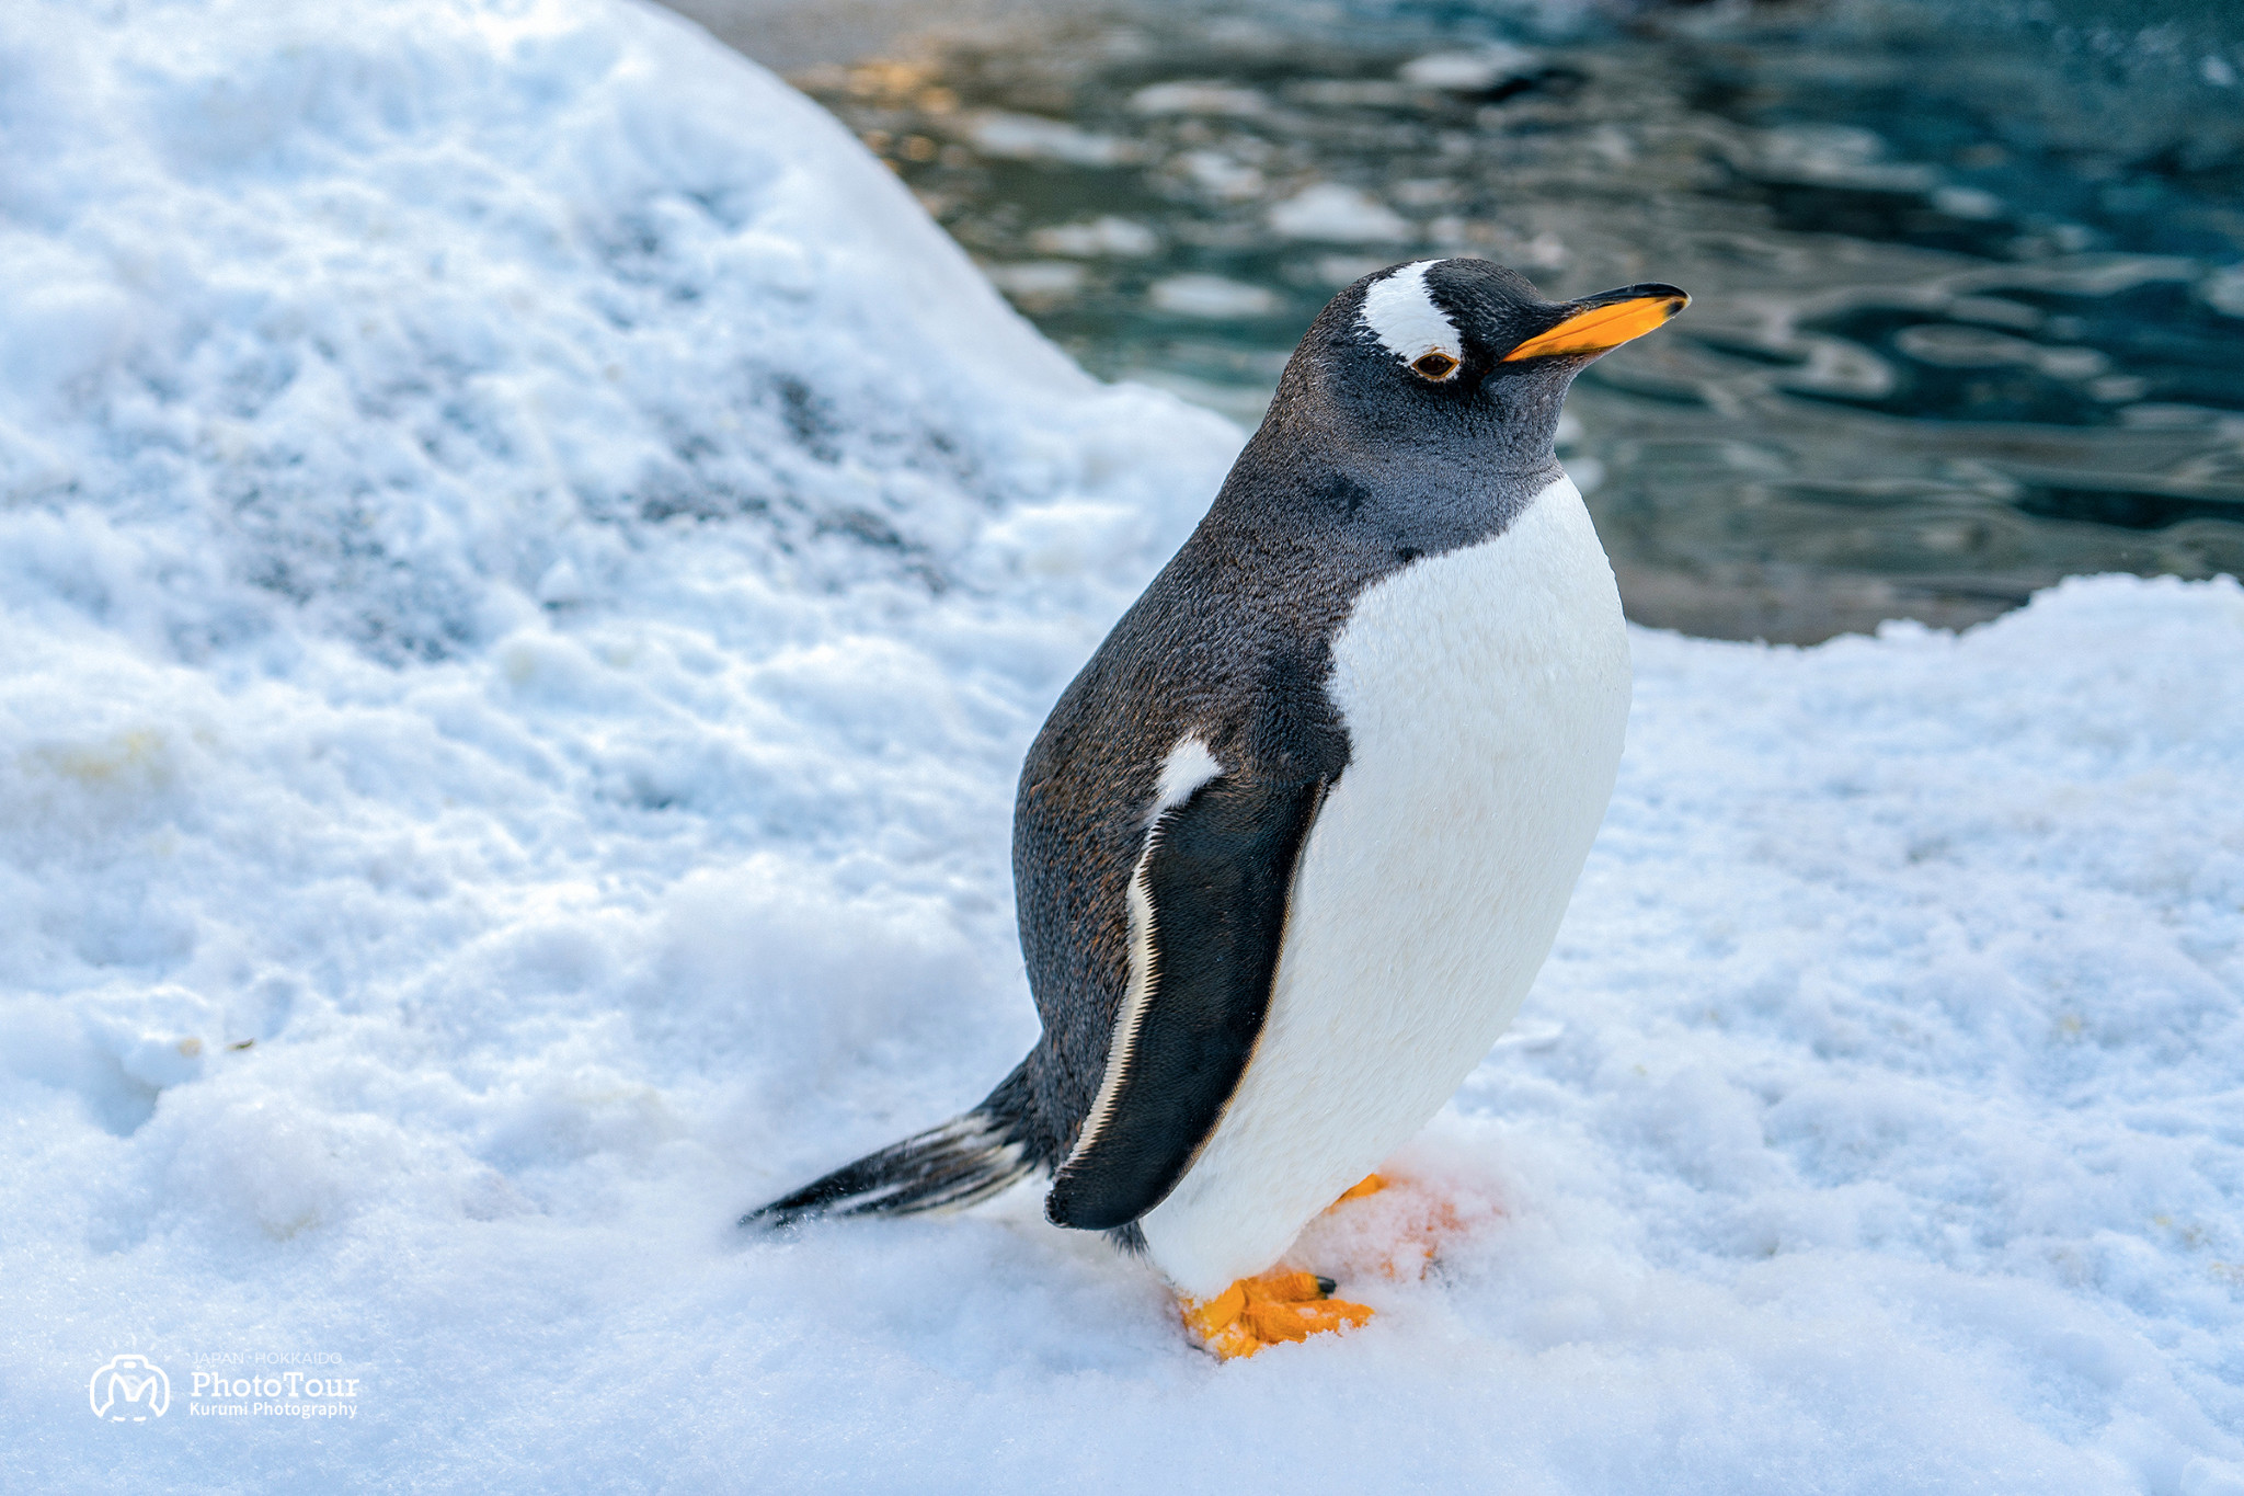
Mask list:
POLYGON ((1555 460, 1573 377, 1687 303, 1658 283, 1544 301, 1526 276, 1488 260, 1396 265, 1317 314, 1266 428, 1535 471, 1555 460))

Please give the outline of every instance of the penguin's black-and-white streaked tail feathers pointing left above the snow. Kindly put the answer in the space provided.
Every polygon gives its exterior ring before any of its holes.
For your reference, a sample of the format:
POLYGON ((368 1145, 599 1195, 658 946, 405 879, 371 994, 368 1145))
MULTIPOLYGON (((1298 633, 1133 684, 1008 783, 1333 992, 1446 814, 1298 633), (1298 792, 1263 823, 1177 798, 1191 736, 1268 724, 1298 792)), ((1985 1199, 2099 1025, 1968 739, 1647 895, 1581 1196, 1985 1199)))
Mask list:
POLYGON ((1028 1061, 972 1112, 803 1184, 741 1216, 776 1231, 812 1216, 918 1216, 987 1200, 1041 1164, 1028 1130, 1028 1061))

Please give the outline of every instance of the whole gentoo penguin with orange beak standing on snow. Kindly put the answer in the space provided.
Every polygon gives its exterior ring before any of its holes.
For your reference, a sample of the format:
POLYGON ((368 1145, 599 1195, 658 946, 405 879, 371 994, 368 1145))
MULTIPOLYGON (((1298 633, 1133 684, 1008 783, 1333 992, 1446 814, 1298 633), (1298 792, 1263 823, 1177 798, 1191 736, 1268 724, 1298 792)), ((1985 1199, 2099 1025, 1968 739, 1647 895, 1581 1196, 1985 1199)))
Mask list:
POLYGON ((1582 368, 1687 301, 1553 303, 1463 258, 1335 296, 1021 767, 1043 1036, 974 1110, 743 1225, 1050 1171, 1046 1216, 1151 1258, 1218 1352, 1369 1317, 1263 1274, 1450 1099, 1551 951, 1629 711, 1553 433, 1582 368))

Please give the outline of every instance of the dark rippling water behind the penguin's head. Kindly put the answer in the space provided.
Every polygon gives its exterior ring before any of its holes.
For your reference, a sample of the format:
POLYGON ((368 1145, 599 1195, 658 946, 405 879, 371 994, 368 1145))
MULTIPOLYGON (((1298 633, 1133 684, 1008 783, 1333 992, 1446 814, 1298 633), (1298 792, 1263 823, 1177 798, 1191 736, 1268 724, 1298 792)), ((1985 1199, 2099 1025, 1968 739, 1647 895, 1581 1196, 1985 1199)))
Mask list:
POLYGON ((1106 4, 799 83, 1088 368, 1245 422, 1378 265, 1683 285, 1562 453, 1631 617, 1804 641, 2244 572, 2231 9, 1106 4))

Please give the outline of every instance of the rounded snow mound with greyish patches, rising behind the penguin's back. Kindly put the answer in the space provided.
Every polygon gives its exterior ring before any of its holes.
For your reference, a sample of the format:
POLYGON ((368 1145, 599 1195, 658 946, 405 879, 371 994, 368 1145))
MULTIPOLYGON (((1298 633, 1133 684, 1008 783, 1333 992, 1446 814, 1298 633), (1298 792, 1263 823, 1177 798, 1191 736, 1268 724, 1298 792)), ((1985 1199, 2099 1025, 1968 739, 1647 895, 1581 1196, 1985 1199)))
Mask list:
POLYGON ((9 74, 0 550, 175 653, 307 612, 440 659, 678 532, 990 581, 1005 509, 1174 525, 1227 440, 1095 388, 824 112, 653 16, 40 0, 9 74))

